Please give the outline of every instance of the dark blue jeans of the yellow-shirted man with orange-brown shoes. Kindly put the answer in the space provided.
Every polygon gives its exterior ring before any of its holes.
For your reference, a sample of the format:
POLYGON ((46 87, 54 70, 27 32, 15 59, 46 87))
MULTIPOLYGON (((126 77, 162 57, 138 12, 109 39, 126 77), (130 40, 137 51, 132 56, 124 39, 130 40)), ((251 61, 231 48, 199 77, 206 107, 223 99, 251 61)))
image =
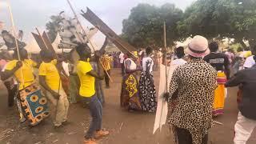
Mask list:
POLYGON ((90 110, 90 115, 93 118, 90 122, 90 128, 86 133, 85 138, 93 138, 94 133, 98 130, 102 130, 102 103, 99 102, 96 95, 90 98, 84 98, 87 102, 90 110))

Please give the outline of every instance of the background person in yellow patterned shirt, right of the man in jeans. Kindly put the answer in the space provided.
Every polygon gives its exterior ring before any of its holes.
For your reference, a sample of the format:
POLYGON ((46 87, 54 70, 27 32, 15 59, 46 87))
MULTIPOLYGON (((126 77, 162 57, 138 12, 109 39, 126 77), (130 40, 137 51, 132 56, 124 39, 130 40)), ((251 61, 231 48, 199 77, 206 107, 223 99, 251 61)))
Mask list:
POLYGON ((113 58, 110 57, 108 54, 105 54, 102 56, 101 58, 102 64, 104 66, 104 73, 105 73, 105 82, 106 82, 106 88, 109 89, 110 88, 110 78, 109 76, 106 74, 106 72, 108 74, 110 74, 110 70, 111 70, 111 62, 113 62, 113 58))

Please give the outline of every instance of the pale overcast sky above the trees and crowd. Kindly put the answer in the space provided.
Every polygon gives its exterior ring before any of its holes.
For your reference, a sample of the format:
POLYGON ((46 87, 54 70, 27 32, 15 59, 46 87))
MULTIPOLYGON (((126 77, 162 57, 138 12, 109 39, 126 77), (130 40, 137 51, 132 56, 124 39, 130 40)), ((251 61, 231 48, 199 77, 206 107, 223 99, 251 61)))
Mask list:
MULTIPOLYGON (((74 5, 77 13, 80 10, 86 10, 86 6, 88 6, 117 34, 121 34, 122 20, 128 18, 130 10, 138 3, 162 6, 166 2, 170 2, 185 10, 194 0, 70 0, 70 2, 74 5)), ((44 29, 46 22, 50 20, 50 15, 58 14, 62 10, 73 16, 66 0, 10 0, 10 4, 15 25, 25 34, 35 31, 35 27, 44 29)), ((83 18, 80 17, 80 19, 83 18)), ((6 22, 6 27, 10 26, 9 14, 2 2, 0 2, 0 21, 6 22)), ((90 26, 90 23, 86 21, 82 21, 82 23, 90 26)))

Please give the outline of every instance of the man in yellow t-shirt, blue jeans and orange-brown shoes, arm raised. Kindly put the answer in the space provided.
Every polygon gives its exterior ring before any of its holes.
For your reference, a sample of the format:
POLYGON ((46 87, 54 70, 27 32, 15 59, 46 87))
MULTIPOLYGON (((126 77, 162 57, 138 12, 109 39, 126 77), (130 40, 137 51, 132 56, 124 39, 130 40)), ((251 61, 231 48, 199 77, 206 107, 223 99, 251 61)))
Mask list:
POLYGON ((88 58, 90 58, 90 48, 87 45, 78 45, 76 48, 80 60, 78 61, 78 77, 80 79, 79 94, 84 100, 89 103, 92 122, 86 133, 84 144, 97 144, 94 138, 100 138, 109 134, 109 131, 102 130, 102 104, 99 102, 95 94, 95 78, 103 79, 104 73, 102 65, 99 62, 99 54, 95 53, 95 59, 98 65, 99 74, 93 70, 88 58))

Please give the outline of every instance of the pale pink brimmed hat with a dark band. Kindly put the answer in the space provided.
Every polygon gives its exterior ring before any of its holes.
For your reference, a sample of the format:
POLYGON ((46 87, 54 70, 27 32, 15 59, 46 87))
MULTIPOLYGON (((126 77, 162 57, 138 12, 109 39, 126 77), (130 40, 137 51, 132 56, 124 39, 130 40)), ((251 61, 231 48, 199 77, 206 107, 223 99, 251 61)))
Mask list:
POLYGON ((188 45, 186 53, 195 58, 205 57, 207 54, 210 54, 208 40, 200 35, 194 36, 188 45))

